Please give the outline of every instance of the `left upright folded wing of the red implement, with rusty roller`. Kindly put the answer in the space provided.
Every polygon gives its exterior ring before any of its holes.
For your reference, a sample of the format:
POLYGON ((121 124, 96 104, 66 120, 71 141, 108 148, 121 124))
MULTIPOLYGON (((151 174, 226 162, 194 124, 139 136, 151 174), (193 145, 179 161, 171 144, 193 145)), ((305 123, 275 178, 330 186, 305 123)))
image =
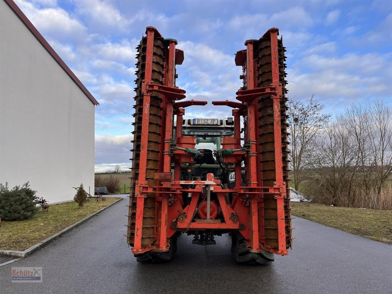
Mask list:
POLYGON ((167 251, 169 247, 167 218, 172 212, 168 211, 168 195, 172 194, 169 193, 172 187, 165 182, 172 180, 173 100, 185 98, 185 91, 175 85, 175 65, 183 61, 183 52, 175 47, 176 40, 163 39, 154 27, 147 27, 146 33, 136 55, 137 86, 126 235, 134 253, 153 248, 167 251))

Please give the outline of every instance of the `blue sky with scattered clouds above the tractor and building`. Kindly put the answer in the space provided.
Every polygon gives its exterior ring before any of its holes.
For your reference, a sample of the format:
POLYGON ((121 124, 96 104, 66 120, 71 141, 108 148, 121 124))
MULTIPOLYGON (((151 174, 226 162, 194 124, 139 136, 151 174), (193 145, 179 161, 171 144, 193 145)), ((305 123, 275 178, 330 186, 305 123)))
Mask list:
MULTIPOLYGON (((135 47, 145 27, 178 40, 185 60, 177 85, 187 100, 235 100, 234 54, 278 27, 287 47, 289 98, 314 94, 326 113, 383 98, 392 103, 392 1, 15 0, 100 103, 95 109, 96 171, 131 163, 135 47)), ((226 118, 211 104, 186 118, 226 118)))

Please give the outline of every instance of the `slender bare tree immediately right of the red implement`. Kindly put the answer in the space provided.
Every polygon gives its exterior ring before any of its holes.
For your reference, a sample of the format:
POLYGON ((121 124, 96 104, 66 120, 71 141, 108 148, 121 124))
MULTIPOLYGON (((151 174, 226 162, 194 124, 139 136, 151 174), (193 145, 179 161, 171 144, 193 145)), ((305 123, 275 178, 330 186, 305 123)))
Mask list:
POLYGON ((292 146, 290 154, 291 168, 294 178, 294 187, 299 188, 299 183, 304 180, 303 172, 312 165, 314 156, 314 139, 321 129, 325 127, 330 114, 321 113, 324 105, 316 102, 314 95, 301 102, 297 98, 289 100, 290 124, 289 141, 292 146))

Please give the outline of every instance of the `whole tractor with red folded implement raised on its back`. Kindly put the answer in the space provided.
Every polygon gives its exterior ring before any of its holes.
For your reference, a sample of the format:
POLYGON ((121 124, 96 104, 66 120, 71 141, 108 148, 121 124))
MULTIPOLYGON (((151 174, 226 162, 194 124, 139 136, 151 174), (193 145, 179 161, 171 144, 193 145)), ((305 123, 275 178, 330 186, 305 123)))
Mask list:
POLYGON ((236 53, 243 85, 227 119, 183 119, 177 41, 147 27, 137 47, 135 122, 127 243, 137 261, 172 259, 176 237, 215 244, 232 236, 240 263, 268 265, 292 245, 285 90, 285 47, 272 28, 236 53), (243 138, 241 138, 243 118, 243 138), (241 142, 242 141, 242 142, 241 142), (214 144, 216 150, 196 148, 214 144))

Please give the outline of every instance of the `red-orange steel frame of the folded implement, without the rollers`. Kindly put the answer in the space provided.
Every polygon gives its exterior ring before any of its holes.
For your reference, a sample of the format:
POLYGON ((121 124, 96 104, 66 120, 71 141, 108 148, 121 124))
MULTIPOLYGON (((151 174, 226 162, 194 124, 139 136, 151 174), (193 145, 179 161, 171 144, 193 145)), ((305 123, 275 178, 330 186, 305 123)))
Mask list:
POLYGON ((165 56, 164 80, 163 85, 153 84, 152 74, 152 52, 154 38, 162 38, 154 27, 147 27, 147 49, 145 62, 145 80, 142 83, 143 94, 143 119, 142 119, 142 138, 140 152, 140 172, 135 185, 134 197, 136 203, 136 228, 133 253, 143 253, 149 250, 167 251, 169 250, 169 238, 176 232, 192 230, 236 230, 240 232, 247 246, 252 252, 269 251, 275 254, 287 255, 286 233, 285 233, 285 213, 284 199, 288 197, 285 182, 283 181, 283 162, 282 162, 282 143, 281 143, 281 114, 280 102, 282 97, 282 87, 279 84, 279 65, 278 65, 278 29, 270 29, 264 37, 271 40, 272 55, 272 84, 270 87, 257 88, 256 68, 254 56, 254 40, 245 42, 246 58, 243 67, 246 69, 246 89, 238 91, 237 99, 241 101, 214 101, 214 105, 227 105, 234 108, 234 137, 224 137, 222 147, 240 149, 240 118, 246 116, 245 143, 248 144, 248 151, 238 151, 223 158, 224 163, 234 163, 236 174, 236 185, 234 189, 223 189, 220 180, 214 178, 213 174, 207 175, 206 181, 181 181, 181 163, 192 163, 190 154, 184 151, 173 151, 173 142, 178 147, 194 147, 195 137, 182 136, 182 121, 185 109, 190 105, 205 105, 205 101, 185 101, 174 102, 185 98, 185 91, 175 86, 175 65, 181 64, 183 60, 182 51, 176 49, 176 41, 168 40, 168 49, 165 56), (161 131, 161 166, 160 172, 155 175, 156 185, 149 185, 145 178, 143 165, 147 162, 147 140, 149 127, 149 103, 152 92, 162 95, 162 131, 161 131), (274 105, 274 142, 275 142, 275 165, 276 182, 273 187, 263 187, 260 168, 260 137, 258 136, 256 105, 260 96, 269 94, 273 99, 274 105), (174 115, 176 115, 176 138, 173 138, 174 115), (245 161, 247 186, 241 186, 241 162, 245 161), (174 176, 172 176, 172 163, 174 163, 174 176), (183 188, 184 184, 193 184, 194 189, 183 188), (181 186, 182 185, 182 186, 181 186), (207 187, 216 194, 218 203, 223 215, 223 221, 198 220, 192 221, 196 213, 196 208, 202 198, 202 189, 207 187), (153 245, 141 245, 143 230, 143 203, 147 193, 156 193, 156 236, 153 245), (183 208, 183 193, 191 193, 191 202, 183 208), (227 203, 225 195, 233 193, 231 203, 227 203), (274 194, 277 205, 278 218, 278 247, 268 247, 265 245, 263 236, 263 194, 274 194))

